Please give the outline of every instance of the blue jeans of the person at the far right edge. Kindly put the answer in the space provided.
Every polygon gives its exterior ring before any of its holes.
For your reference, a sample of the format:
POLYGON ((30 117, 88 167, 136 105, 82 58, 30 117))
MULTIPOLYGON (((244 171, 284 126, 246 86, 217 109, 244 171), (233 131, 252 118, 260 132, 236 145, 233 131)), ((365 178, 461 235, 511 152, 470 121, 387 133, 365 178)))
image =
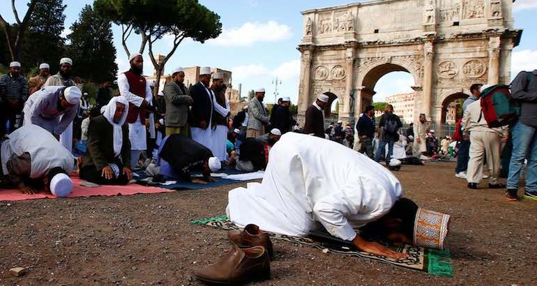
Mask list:
POLYGON ((518 188, 524 159, 527 159, 526 190, 537 192, 537 128, 518 122, 513 127, 512 134, 513 153, 509 163, 507 188, 518 188))

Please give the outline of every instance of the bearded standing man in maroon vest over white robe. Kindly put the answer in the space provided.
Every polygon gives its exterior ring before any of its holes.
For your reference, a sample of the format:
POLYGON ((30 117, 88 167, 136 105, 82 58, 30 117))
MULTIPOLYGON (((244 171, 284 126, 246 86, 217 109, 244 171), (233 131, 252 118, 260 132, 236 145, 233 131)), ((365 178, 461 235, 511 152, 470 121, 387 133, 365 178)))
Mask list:
POLYGON ((142 75, 144 59, 137 52, 130 54, 130 70, 121 73, 117 79, 120 96, 128 100, 128 135, 130 140, 130 169, 138 164, 139 156, 147 149, 146 113, 152 112, 151 87, 142 75))

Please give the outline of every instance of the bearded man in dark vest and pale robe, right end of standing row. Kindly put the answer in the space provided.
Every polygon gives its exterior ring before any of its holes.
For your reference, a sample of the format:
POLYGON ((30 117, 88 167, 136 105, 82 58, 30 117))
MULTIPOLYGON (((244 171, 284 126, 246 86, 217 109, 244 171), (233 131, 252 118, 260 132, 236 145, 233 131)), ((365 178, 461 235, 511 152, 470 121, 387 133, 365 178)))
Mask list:
POLYGON ((215 94, 213 103, 215 128, 213 129, 213 145, 211 151, 213 152, 213 156, 220 159, 220 161, 227 159, 227 120, 229 119, 230 112, 229 103, 225 98, 226 88, 224 74, 214 73, 211 91, 215 94))

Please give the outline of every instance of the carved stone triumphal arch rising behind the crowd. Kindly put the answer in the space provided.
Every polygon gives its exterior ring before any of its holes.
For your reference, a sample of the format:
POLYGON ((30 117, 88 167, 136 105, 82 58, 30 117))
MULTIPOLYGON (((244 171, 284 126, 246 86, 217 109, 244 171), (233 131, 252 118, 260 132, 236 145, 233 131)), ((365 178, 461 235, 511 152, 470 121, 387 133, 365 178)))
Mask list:
POLYGON ((441 123, 472 83, 510 82, 522 35, 512 8, 513 0, 376 0, 303 11, 298 121, 320 93, 338 98, 339 119, 355 121, 380 77, 407 71, 414 118, 441 123))

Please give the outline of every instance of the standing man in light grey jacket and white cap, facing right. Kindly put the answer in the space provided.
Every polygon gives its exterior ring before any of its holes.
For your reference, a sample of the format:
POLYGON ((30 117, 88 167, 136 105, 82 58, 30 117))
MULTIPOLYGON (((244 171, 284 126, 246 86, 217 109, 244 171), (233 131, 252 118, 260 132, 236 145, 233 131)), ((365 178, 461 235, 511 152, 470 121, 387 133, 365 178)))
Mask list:
POLYGON ((265 89, 257 89, 255 96, 248 103, 246 138, 255 138, 265 134, 265 126, 269 124, 270 118, 266 116, 263 98, 265 98, 265 89))

